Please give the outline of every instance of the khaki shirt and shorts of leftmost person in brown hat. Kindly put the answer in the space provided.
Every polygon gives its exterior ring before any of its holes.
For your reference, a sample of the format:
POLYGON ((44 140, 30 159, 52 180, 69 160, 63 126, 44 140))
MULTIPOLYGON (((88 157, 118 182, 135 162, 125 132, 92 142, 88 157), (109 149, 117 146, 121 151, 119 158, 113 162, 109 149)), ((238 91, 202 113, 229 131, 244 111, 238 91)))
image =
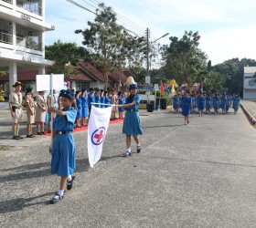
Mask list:
POLYGON ((23 109, 22 109, 22 94, 13 92, 9 96, 9 103, 12 103, 12 109, 15 113, 13 118, 14 123, 20 123, 23 118, 23 109))

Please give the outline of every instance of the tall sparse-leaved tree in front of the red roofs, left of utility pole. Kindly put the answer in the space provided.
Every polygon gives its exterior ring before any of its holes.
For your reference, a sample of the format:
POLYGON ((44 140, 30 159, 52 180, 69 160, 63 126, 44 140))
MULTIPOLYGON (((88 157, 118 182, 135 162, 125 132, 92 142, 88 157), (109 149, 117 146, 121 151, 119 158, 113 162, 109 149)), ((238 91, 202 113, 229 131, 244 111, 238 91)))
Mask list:
POLYGON ((82 44, 90 53, 85 61, 101 70, 107 88, 109 75, 115 68, 130 67, 135 74, 138 73, 142 68, 144 46, 142 38, 131 36, 117 24, 111 7, 100 4, 96 11, 94 22, 88 22, 90 28, 75 33, 82 34, 82 44))

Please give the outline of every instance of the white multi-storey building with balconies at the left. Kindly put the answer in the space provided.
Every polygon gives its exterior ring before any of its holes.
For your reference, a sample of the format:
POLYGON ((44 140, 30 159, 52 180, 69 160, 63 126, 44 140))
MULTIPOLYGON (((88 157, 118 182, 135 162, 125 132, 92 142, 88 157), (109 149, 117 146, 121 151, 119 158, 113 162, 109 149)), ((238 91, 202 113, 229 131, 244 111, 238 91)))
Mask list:
POLYGON ((8 71, 5 94, 12 91, 17 71, 37 70, 45 74, 44 32, 54 30, 45 22, 45 0, 0 0, 0 71, 8 71))

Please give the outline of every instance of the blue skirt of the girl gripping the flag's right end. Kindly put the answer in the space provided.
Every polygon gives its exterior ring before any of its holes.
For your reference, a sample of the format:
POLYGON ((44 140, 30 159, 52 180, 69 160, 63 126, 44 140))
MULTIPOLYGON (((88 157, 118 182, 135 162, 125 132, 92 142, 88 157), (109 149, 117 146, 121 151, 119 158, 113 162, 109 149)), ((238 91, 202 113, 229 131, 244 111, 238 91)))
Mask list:
POLYGON ((138 111, 126 111, 123 120, 123 134, 142 135, 141 120, 138 111))

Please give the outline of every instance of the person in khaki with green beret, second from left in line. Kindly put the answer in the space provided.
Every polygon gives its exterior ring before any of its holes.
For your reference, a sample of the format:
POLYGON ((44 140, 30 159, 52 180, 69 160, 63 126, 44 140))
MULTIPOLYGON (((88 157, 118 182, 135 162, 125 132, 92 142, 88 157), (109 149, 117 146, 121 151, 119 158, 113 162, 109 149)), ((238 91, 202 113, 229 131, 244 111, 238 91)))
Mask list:
POLYGON ((32 124, 35 123, 35 102, 33 98, 33 88, 26 88, 25 104, 27 108, 27 138, 34 138, 32 134, 32 124))

